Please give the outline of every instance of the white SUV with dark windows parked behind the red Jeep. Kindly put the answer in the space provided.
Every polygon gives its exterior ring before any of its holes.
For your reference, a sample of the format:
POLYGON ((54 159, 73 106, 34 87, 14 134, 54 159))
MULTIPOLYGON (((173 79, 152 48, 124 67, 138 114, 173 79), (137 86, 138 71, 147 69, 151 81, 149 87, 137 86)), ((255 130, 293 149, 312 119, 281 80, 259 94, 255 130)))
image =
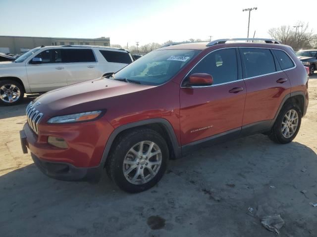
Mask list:
POLYGON ((133 61, 124 49, 92 45, 42 46, 13 62, 0 62, 0 103, 19 103, 24 93, 50 91, 115 73, 133 61))

